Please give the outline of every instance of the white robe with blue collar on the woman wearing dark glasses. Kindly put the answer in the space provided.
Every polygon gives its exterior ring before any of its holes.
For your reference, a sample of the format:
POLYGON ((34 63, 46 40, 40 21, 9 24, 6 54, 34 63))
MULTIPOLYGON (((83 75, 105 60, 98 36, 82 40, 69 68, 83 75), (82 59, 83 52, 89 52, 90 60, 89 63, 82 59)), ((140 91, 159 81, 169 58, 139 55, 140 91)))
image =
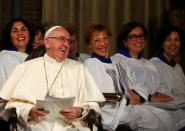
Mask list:
MULTIPOLYGON (((120 51, 113 55, 111 60, 119 63, 126 70, 130 83, 129 88, 137 91, 147 102, 149 94, 160 91, 160 75, 149 60, 139 57, 138 59, 131 58, 127 51, 120 51)), ((176 130, 173 117, 169 112, 151 106, 150 108, 149 110, 155 112, 161 124, 166 127, 165 130, 176 130), (163 115, 168 119, 163 119, 163 115)))

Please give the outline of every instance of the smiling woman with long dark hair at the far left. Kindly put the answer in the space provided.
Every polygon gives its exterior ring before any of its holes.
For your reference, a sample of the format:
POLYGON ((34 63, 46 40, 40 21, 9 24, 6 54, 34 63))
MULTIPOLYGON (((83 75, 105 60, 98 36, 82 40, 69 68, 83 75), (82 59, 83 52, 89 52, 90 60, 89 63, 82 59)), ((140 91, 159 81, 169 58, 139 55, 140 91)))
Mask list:
POLYGON ((3 46, 0 52, 0 89, 17 64, 24 62, 31 51, 33 32, 30 25, 21 18, 12 19, 3 32, 3 46))

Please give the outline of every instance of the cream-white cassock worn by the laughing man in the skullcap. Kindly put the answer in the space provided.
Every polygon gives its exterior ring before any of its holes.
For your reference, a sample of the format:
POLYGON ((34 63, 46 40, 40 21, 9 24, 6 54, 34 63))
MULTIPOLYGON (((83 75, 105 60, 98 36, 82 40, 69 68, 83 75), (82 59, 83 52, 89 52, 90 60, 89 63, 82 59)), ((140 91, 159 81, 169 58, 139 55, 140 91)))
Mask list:
MULTIPOLYGON (((25 121, 28 120, 30 109, 34 105, 20 101, 11 102, 11 98, 36 103, 36 100, 44 100, 47 94, 58 98, 75 97, 75 107, 89 105, 97 112, 100 112, 97 102, 104 101, 102 93, 82 63, 70 59, 57 62, 47 54, 18 65, 0 91, 0 97, 10 100, 6 108, 16 107, 18 116, 21 115, 25 121), (60 74, 56 77, 62 65, 60 74)), ((69 126, 64 120, 56 118, 28 124, 33 131, 64 131, 69 126)), ((73 124, 82 131, 89 130, 81 120, 74 121, 73 124)))

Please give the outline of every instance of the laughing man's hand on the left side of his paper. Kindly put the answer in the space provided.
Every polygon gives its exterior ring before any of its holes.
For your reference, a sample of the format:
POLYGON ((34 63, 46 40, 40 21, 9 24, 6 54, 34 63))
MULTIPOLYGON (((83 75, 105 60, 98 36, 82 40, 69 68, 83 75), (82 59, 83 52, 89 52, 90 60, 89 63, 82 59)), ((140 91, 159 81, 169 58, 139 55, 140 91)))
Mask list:
POLYGON ((29 119, 30 120, 40 120, 42 119, 44 116, 46 116, 49 112, 44 110, 44 108, 38 108, 36 106, 32 107, 32 109, 30 110, 29 113, 29 119))

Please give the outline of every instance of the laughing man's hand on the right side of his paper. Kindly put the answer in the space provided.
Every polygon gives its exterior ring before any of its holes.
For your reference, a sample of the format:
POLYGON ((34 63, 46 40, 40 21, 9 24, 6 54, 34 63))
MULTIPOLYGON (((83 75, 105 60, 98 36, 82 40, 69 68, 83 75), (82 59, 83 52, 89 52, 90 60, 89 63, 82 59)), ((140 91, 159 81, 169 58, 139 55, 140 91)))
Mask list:
POLYGON ((65 108, 60 111, 60 113, 67 119, 79 118, 81 116, 81 112, 82 110, 80 107, 65 108))

